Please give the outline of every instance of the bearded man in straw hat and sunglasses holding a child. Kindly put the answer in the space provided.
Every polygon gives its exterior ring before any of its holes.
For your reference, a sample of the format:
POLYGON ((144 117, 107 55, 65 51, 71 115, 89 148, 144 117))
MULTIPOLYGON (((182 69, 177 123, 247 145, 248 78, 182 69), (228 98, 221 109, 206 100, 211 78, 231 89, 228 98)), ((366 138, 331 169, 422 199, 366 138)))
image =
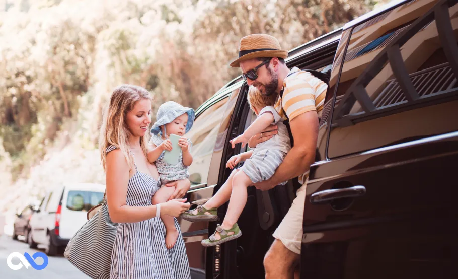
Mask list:
MULTIPOLYGON (((310 165, 315 159, 318 137, 318 113, 323 109, 327 85, 308 72, 294 67, 289 69, 283 50, 277 39, 265 34, 253 34, 240 40, 239 58, 232 67, 242 69, 242 77, 248 85, 261 94, 276 94, 275 109, 289 120, 294 146, 275 174, 255 186, 269 190, 282 181, 299 177, 302 185, 297 190, 288 213, 273 236, 275 240, 264 258, 266 278, 292 278, 300 259, 302 217, 306 197, 306 184, 310 165)), ((268 140, 275 132, 264 131, 251 138, 249 146, 268 140)))

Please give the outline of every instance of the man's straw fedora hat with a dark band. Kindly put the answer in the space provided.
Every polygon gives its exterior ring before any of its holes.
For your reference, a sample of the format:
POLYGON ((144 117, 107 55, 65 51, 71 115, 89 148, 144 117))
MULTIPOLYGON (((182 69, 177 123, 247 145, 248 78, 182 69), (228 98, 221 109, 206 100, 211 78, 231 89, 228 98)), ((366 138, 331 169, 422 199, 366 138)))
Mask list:
POLYGON ((239 67, 240 62, 260 57, 288 57, 288 51, 281 49, 277 39, 266 34, 252 34, 240 39, 239 58, 231 67, 239 67))

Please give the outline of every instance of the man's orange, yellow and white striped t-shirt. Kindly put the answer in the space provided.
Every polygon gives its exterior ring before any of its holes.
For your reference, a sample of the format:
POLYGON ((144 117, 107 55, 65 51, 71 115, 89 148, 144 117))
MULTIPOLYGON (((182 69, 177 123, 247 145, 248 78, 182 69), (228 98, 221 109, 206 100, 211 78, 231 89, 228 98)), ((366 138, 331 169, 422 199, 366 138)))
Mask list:
MULTIPOLYGON (((323 110, 328 85, 309 72, 294 67, 283 81, 283 97, 278 95, 275 110, 289 121, 302 113, 323 110)), ((305 185, 309 171, 299 175, 299 183, 305 185)))

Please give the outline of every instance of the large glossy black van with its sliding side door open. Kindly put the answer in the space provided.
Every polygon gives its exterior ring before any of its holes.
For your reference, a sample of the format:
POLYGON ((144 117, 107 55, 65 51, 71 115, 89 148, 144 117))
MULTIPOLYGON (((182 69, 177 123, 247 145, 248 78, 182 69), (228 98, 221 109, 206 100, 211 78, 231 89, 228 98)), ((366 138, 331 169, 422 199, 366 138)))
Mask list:
MULTIPOLYGON (((289 52, 289 68, 332 68, 304 201, 301 278, 457 277, 457 34, 456 1, 398 1, 289 52)), ((246 92, 235 79, 196 112, 193 205, 245 151, 228 141, 255 119, 246 92)), ((181 220, 192 276, 264 278, 294 190, 291 181, 249 187, 243 236, 223 245, 200 244, 216 222, 181 220)))

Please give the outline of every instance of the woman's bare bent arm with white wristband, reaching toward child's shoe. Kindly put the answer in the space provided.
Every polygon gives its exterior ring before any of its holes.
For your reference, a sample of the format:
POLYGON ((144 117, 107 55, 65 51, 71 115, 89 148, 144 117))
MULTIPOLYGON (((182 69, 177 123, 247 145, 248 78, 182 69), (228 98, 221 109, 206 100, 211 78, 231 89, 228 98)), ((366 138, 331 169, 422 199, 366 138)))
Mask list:
MULTIPOLYGON (((115 223, 135 223, 156 217, 156 205, 126 205, 127 184, 129 183, 129 165, 121 150, 116 149, 107 154, 107 203, 110 218, 115 223)), ((161 205, 161 215, 178 216, 189 208, 185 200, 175 200, 161 205), (178 213, 178 215, 177 215, 178 213)))

